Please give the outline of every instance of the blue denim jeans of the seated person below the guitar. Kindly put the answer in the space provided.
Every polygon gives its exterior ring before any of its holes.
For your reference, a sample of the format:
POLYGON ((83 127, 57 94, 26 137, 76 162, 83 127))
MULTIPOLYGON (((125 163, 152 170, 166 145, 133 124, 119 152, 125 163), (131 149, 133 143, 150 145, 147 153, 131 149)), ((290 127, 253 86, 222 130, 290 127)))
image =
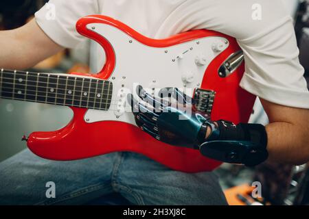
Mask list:
POLYGON ((0 163, 0 205, 114 205, 113 194, 133 205, 227 204, 213 172, 176 172, 136 153, 55 162, 25 150, 0 163))

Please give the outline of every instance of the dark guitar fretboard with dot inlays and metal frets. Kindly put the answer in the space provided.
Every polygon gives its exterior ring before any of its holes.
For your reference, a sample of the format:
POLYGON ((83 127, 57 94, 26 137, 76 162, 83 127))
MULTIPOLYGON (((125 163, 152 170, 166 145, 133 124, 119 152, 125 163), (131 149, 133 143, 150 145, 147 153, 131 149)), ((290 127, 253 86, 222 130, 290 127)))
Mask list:
POLYGON ((64 74, 0 70, 0 97, 3 99, 108 110, 112 94, 111 81, 64 74))

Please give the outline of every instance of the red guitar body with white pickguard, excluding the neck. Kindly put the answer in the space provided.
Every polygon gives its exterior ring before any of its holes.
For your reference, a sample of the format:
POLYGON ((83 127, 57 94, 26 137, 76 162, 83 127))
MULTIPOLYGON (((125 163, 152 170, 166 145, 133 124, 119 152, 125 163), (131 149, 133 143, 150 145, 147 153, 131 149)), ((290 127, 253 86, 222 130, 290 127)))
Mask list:
POLYGON ((29 136, 27 146, 33 153, 47 159, 73 160, 132 151, 183 172, 209 171, 220 165, 199 151, 164 144, 141 131, 126 103, 126 94, 135 92, 134 83, 150 90, 185 88, 190 96, 195 88, 213 90, 216 96, 211 118, 246 123, 255 96, 239 86, 244 64, 228 77, 218 75, 222 63, 240 51, 234 38, 194 30, 154 40, 100 15, 81 18, 76 27, 80 34, 98 42, 106 53, 106 64, 100 73, 82 76, 113 81, 111 107, 109 110, 71 107, 74 116, 66 127, 29 136), (201 54, 206 58, 205 63, 198 65, 194 60, 201 54))

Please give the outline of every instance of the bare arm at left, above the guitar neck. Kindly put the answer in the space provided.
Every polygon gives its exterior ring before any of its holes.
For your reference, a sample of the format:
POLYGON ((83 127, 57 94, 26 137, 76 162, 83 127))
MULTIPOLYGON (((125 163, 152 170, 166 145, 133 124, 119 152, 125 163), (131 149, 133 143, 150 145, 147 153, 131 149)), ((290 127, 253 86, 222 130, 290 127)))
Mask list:
POLYGON ((30 68, 63 48, 32 19, 23 27, 0 31, 0 68, 30 68))

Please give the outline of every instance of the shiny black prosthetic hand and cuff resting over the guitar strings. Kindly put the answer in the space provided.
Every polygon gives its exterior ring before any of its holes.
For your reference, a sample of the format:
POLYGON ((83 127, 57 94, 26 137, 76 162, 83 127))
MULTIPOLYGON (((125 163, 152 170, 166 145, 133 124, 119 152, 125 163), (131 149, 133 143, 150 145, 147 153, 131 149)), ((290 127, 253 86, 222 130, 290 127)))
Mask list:
POLYGON ((207 114, 194 110, 195 99, 177 88, 164 88, 159 97, 148 94, 141 86, 136 92, 141 101, 128 95, 135 121, 153 138, 198 149, 206 157, 231 164, 255 166, 267 159, 263 125, 211 121, 207 114))

